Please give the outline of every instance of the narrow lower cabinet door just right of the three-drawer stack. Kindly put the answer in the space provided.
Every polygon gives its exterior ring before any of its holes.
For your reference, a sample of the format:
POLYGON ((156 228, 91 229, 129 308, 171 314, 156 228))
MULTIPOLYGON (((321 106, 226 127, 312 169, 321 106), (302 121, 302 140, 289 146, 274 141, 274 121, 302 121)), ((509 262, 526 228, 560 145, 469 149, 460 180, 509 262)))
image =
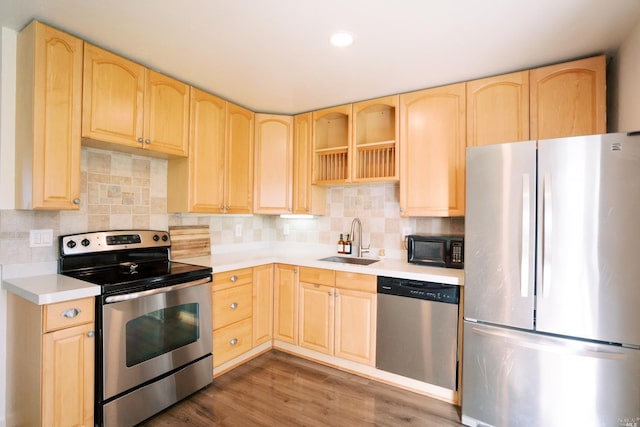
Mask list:
POLYGON ((253 268, 253 346, 273 337, 273 264, 253 268))

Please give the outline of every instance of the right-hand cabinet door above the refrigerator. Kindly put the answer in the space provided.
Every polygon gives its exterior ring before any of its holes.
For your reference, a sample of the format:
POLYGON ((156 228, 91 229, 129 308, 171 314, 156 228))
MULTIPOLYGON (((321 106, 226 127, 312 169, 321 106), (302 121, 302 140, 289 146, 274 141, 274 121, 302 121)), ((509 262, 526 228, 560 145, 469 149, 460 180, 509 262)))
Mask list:
POLYGON ((531 139, 605 133, 605 74, 604 56, 531 70, 531 139))

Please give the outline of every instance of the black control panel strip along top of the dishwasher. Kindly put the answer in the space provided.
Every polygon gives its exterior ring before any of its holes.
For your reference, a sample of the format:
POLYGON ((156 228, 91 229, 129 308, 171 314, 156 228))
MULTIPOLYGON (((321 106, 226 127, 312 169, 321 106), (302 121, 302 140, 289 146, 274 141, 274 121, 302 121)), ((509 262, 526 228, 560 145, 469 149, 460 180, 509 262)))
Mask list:
POLYGON ((448 304, 460 302, 459 286, 396 277, 378 276, 378 293, 448 304))

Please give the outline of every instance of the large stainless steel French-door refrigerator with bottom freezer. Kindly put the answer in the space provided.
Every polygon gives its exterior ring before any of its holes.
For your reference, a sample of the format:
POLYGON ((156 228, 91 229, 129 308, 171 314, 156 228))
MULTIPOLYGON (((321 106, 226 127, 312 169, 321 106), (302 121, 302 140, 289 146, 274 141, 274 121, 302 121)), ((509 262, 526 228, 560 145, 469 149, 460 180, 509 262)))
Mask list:
POLYGON ((640 135, 467 149, 462 422, 640 427, 640 135))

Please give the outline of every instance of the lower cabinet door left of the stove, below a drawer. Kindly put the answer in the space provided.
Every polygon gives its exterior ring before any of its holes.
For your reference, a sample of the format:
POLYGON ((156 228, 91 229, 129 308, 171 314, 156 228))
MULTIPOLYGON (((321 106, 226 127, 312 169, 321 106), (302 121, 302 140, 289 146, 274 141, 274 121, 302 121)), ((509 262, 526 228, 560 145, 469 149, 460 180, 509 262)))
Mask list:
POLYGON ((43 336, 42 425, 93 426, 93 328, 89 323, 43 336))

